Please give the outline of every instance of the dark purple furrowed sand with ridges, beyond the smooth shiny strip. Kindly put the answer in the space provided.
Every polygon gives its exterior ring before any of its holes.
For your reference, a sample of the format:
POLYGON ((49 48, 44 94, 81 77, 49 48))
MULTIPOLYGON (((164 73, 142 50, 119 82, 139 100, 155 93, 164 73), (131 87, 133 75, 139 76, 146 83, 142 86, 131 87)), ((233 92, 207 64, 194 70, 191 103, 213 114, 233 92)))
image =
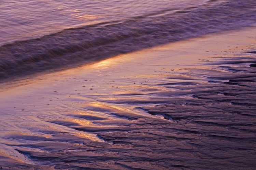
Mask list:
POLYGON ((10 146, 40 164, 28 169, 44 169, 49 164, 54 169, 74 170, 255 169, 256 73, 244 63, 234 57, 215 62, 211 69, 179 70, 160 84, 152 83, 152 89, 162 87, 154 90, 154 97, 103 96, 97 98, 101 104, 82 106, 108 118, 74 113, 67 119, 46 120, 77 133, 90 132, 98 140, 14 135, 9 137, 39 142, 10 146), (231 63, 232 67, 220 67, 231 63), (118 104, 134 108, 134 113, 117 109, 118 104))

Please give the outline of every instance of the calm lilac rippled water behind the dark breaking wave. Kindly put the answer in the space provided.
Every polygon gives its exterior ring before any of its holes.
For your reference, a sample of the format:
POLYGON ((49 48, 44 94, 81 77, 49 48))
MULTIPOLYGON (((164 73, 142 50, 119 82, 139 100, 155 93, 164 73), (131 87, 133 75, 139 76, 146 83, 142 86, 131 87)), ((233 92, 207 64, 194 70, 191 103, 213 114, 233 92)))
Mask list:
POLYGON ((2 0, 0 45, 70 27, 178 10, 205 0, 2 0))

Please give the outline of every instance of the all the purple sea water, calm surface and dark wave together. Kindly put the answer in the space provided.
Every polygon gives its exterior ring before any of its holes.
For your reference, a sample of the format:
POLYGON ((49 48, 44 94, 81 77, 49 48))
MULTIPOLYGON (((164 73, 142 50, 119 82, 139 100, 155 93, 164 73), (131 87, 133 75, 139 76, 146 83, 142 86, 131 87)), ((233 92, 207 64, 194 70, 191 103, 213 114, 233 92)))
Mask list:
POLYGON ((3 0, 0 78, 255 23, 255 0, 3 0))

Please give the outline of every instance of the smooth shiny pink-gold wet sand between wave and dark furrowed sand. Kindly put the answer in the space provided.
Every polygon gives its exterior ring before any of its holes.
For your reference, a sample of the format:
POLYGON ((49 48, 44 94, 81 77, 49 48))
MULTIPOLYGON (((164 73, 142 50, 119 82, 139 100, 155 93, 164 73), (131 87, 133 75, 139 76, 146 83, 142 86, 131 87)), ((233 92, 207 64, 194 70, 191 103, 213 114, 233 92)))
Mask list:
POLYGON ((155 105, 154 100, 146 104, 143 101, 149 98, 162 100, 168 96, 159 94, 177 90, 159 86, 160 83, 190 81, 165 79, 166 76, 179 74, 186 68, 208 67, 203 65, 204 61, 215 61, 220 53, 226 57, 233 56, 234 53, 230 54, 228 49, 237 50, 237 55, 241 56, 244 51, 239 49, 246 49, 243 42, 255 42, 255 39, 248 38, 254 32, 255 30, 249 30, 180 41, 73 69, 41 73, 27 80, 14 82, 14 86, 2 84, 0 152, 10 155, 11 159, 33 164, 30 159, 14 150, 19 147, 5 144, 31 145, 43 140, 57 145, 61 142, 76 142, 72 145, 83 146, 82 141, 87 139, 104 142, 97 138, 97 133, 93 130, 115 129, 129 123, 117 115, 126 118, 151 117, 152 115, 134 107, 155 105), (238 42, 240 45, 237 45, 238 42), (139 103, 129 104, 129 100, 139 103), (126 103, 122 103, 123 101, 126 103), (74 129, 79 126, 89 132, 74 129))

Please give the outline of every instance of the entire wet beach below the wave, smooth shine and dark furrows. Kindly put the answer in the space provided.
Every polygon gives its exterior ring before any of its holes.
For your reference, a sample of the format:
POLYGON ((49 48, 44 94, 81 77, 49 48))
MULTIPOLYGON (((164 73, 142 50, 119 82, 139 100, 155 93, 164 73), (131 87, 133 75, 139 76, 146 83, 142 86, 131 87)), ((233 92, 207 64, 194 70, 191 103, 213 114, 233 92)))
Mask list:
POLYGON ((0 87, 3 169, 255 169, 256 28, 0 87))

